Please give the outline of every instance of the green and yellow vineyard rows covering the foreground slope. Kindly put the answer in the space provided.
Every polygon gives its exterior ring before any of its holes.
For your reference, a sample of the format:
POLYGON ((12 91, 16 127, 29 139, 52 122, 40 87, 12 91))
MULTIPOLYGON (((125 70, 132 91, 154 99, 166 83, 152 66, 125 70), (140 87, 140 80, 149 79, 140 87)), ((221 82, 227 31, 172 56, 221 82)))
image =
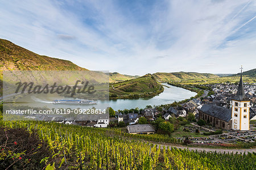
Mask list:
MULTIPOLYGON (((220 154, 180 150, 160 150, 157 145, 138 138, 124 138, 111 128, 90 128, 55 122, 0 121, 2 128, 24 128, 46 141, 51 156, 40 164, 46 169, 255 169, 256 155, 220 154)), ((129 135, 128 135, 129 136, 129 135)), ((142 137, 143 138, 143 137, 142 137)), ((146 139, 144 137, 143 139, 146 139)), ((11 159, 0 146, 1 161, 11 159)), ((20 154, 25 156, 27 151, 20 154)), ((16 158, 14 157, 14 160, 16 158)), ((29 163, 28 163, 29 164, 29 163)))

